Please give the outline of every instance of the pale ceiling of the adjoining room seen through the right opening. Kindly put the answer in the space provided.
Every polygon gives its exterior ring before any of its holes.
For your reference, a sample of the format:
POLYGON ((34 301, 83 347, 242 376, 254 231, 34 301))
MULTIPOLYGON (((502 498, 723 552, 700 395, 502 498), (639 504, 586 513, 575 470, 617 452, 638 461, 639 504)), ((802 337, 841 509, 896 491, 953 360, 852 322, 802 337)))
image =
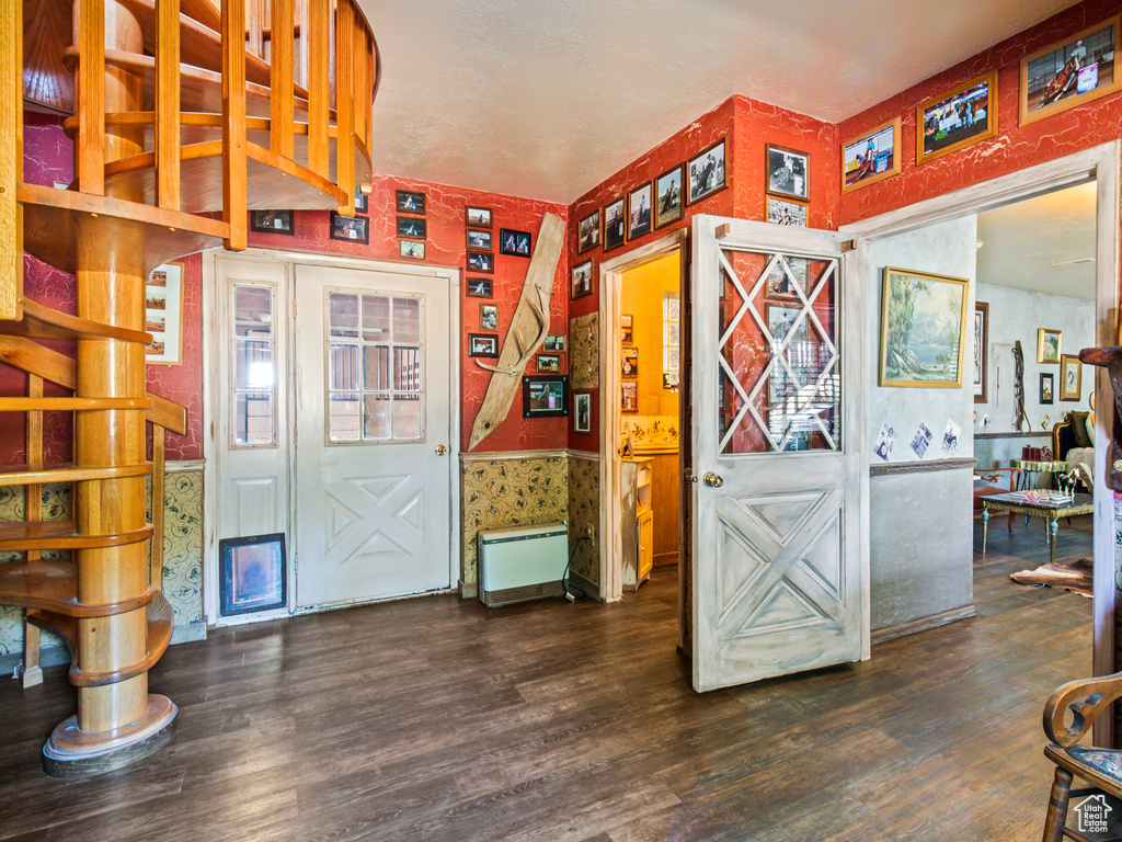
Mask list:
POLYGON ((1094 301, 1094 182, 980 213, 977 238, 980 283, 1094 301))

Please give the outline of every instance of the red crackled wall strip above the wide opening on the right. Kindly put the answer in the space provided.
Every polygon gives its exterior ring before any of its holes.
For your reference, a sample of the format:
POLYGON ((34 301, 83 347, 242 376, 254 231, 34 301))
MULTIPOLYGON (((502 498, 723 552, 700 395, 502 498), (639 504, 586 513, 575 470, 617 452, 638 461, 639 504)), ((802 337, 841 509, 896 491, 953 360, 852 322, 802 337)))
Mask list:
POLYGON ((1122 95, 1119 93, 1018 126, 1021 58, 1118 12, 1118 0, 1087 0, 843 121, 838 127, 839 139, 846 140, 902 117, 903 170, 900 175, 842 196, 839 223, 903 208, 1122 136, 1122 95), (999 68, 1000 134, 917 166, 916 108, 995 67, 999 68))

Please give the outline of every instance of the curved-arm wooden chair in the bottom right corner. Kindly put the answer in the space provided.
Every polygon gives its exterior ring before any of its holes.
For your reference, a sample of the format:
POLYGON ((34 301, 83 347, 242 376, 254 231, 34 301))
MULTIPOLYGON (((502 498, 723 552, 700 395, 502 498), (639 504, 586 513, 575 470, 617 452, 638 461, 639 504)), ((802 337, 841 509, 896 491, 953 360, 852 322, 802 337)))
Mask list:
POLYGON ((1122 672, 1102 678, 1068 681, 1049 696, 1045 704, 1045 733, 1051 742, 1045 757, 1056 763, 1056 778, 1048 799, 1043 842, 1060 842, 1065 835, 1078 842, 1087 838, 1065 827, 1067 805, 1072 796, 1105 793, 1122 798, 1122 751, 1076 745, 1095 720, 1111 703, 1122 696, 1122 672), (1070 712, 1070 723, 1065 721, 1070 712), (1072 779, 1091 784, 1072 789, 1072 779))

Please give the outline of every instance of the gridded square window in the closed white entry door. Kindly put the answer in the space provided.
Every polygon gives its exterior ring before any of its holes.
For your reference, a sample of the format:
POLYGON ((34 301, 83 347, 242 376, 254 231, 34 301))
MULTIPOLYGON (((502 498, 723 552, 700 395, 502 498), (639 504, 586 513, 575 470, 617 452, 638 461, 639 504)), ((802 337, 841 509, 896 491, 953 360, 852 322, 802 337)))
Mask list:
POLYGON ((423 299, 332 292, 328 309, 329 440, 422 439, 423 299))

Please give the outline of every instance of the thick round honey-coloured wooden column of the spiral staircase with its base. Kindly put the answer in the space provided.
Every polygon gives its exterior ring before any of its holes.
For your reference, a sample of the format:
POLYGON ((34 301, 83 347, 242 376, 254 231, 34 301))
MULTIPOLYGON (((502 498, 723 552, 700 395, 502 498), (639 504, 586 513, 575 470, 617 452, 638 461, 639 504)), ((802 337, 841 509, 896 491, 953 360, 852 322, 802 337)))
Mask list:
MULTIPOLYGON (((116 0, 105 0, 105 46, 142 53, 137 19, 116 0)), ((81 95, 81 92, 80 92, 81 95)), ((105 73, 105 110, 142 107, 141 80, 120 70, 105 73)), ((128 129, 105 134, 105 162, 142 150, 142 136, 128 129)), ((75 147, 75 157, 81 154, 75 147)), ((75 171, 81 173, 81 161, 75 171)), ((142 195, 119 199, 142 201, 142 195)), ((77 315, 142 331, 146 275, 135 241, 136 227, 107 238, 79 227, 77 315)), ((79 340, 77 388, 82 397, 139 397, 146 393, 145 348, 117 339, 79 340)), ((76 412, 74 461, 108 467, 145 461, 144 410, 76 412)), ((127 477, 75 483, 75 527, 81 534, 116 534, 146 522, 145 479, 127 477)), ((80 603, 117 603, 148 588, 145 542, 74 551, 80 603)), ((105 674, 144 660, 148 648, 147 611, 79 621, 75 657, 83 672, 105 674)), ((164 696, 148 695, 148 674, 101 686, 79 687, 79 711, 59 724, 44 748, 45 767, 57 777, 84 777, 125 766, 159 749, 172 736, 176 707, 164 696), (74 729, 74 725, 77 725, 74 729)))

